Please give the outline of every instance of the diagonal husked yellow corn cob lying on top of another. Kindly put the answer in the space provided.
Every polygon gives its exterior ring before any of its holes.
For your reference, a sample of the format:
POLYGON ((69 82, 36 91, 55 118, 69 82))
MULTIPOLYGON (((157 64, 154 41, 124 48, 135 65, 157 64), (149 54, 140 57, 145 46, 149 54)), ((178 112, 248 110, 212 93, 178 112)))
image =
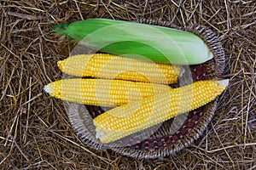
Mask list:
POLYGON ((184 112, 193 111, 215 99, 227 84, 228 80, 194 82, 143 98, 141 103, 132 102, 116 107, 94 119, 96 138, 102 143, 110 143, 184 112))

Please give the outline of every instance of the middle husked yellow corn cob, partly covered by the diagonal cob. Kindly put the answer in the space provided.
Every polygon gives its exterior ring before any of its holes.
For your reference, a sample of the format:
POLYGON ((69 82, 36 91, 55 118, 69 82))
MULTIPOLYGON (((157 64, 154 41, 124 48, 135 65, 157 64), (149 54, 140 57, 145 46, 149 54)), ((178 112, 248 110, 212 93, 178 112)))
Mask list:
POLYGON ((167 92, 162 84, 107 79, 62 79, 44 87, 51 96, 85 105, 113 107, 167 92))

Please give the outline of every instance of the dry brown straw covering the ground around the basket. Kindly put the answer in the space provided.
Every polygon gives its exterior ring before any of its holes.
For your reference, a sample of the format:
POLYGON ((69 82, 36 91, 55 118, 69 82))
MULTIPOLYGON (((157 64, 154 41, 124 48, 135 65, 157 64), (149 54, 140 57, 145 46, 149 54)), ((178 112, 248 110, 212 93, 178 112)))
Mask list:
POLYGON ((256 3, 253 0, 0 0, 1 169, 256 169, 256 3), (174 156, 138 160, 92 150, 63 104, 44 93, 74 42, 50 29, 88 18, 208 26, 224 44, 230 86, 202 137, 174 156))

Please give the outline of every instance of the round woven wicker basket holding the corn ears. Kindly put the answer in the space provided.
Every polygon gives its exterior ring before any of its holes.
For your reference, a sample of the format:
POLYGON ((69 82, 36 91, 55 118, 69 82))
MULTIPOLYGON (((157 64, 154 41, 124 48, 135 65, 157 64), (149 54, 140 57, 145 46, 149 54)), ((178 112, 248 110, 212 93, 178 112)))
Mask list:
MULTIPOLYGON (((201 37, 212 50, 214 58, 203 65, 190 66, 189 74, 192 75, 193 81, 203 79, 218 78, 224 71, 224 49, 218 41, 218 37, 207 29, 205 26, 191 26, 189 28, 180 28, 172 25, 170 22, 158 20, 137 20, 139 23, 151 24, 157 26, 166 26, 176 28, 183 31, 190 31, 201 37)), ((86 53, 91 53, 88 50, 86 53)), ((186 77, 186 74, 183 74, 186 77)), ((96 150, 114 150, 125 156, 137 158, 155 158, 159 156, 169 156, 173 153, 182 150, 189 144, 198 139, 205 131, 208 123, 212 120, 212 116, 216 110, 218 98, 202 106, 201 108, 190 111, 185 115, 185 121, 175 132, 172 132, 173 119, 163 122, 160 127, 154 128, 154 133, 150 133, 148 139, 137 141, 135 136, 131 136, 130 140, 134 138, 133 144, 119 145, 119 144, 101 144, 95 138, 95 127, 92 123, 93 118, 102 114, 103 109, 98 106, 78 105, 65 102, 69 120, 73 126, 75 133, 78 134, 85 144, 96 150), (136 142, 137 141, 137 142, 136 142)), ((152 130, 152 128, 151 128, 152 130)), ((144 131, 143 133, 147 133, 144 131)))

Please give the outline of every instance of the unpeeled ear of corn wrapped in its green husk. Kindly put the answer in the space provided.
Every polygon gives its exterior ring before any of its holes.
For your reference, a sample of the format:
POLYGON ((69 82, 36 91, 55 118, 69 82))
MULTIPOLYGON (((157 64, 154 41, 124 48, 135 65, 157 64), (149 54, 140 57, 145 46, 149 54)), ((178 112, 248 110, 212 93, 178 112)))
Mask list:
POLYGON ((55 32, 86 48, 174 65, 197 65, 213 58, 200 37, 188 31, 134 22, 89 19, 55 26, 55 32))

